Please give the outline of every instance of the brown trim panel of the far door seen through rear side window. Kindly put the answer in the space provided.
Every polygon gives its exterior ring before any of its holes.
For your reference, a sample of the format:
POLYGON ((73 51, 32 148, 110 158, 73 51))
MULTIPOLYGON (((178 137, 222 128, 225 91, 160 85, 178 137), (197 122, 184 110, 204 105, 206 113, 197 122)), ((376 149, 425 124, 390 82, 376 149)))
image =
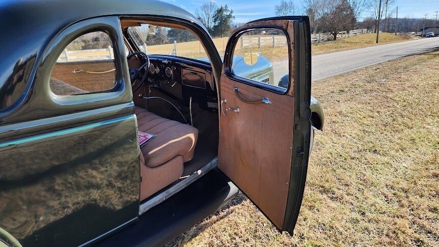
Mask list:
MULTIPOLYGON (((100 92, 112 89, 115 85, 116 71, 107 73, 86 73, 108 71, 115 68, 113 60, 57 63, 52 70, 51 77, 61 80, 80 90, 87 92, 100 92), (73 71, 84 70, 73 73, 73 71)), ((52 88, 51 88, 52 89, 52 88)), ((52 89, 54 93, 54 91, 52 89)))

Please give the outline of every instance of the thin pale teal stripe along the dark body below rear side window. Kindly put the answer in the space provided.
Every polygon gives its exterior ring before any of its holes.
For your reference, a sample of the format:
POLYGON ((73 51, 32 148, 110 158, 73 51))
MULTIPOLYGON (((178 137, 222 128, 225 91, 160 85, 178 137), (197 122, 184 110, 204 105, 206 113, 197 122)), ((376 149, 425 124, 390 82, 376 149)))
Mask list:
POLYGON ((39 135, 34 135, 34 136, 26 137, 26 138, 20 138, 20 139, 16 139, 16 140, 0 143, 0 148, 8 147, 8 146, 11 146, 11 145, 19 145, 19 144, 27 143, 27 142, 39 141, 39 140, 46 139, 46 138, 51 138, 51 137, 54 137, 54 136, 59 136, 59 135, 63 135, 63 134, 70 134, 70 133, 74 133, 74 132, 77 132, 77 131, 86 130, 86 129, 90 129, 90 128, 95 128, 95 127, 100 127, 100 126, 104 126, 104 125, 107 125, 107 124, 113 124, 113 123, 125 121, 125 120, 128 120, 128 119, 133 119, 133 118, 135 118, 135 115, 125 116, 125 117, 121 117, 121 118, 115 118, 115 119, 111 119, 111 120, 105 120, 105 121, 98 122, 98 123, 93 123, 93 124, 88 124, 88 125, 84 125, 84 126, 79 126, 79 127, 69 128, 69 129, 63 129, 63 130, 58 130, 58 131, 53 131, 53 132, 49 132, 49 133, 45 133, 45 134, 39 134, 39 135))

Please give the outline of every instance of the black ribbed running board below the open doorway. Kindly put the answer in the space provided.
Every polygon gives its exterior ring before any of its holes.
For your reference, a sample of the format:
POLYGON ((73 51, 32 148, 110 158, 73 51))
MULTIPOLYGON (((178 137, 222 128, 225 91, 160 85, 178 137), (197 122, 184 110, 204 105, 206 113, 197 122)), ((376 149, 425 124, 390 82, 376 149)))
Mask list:
POLYGON ((238 188, 217 169, 139 216, 138 222, 97 246, 163 246, 238 195, 238 188))

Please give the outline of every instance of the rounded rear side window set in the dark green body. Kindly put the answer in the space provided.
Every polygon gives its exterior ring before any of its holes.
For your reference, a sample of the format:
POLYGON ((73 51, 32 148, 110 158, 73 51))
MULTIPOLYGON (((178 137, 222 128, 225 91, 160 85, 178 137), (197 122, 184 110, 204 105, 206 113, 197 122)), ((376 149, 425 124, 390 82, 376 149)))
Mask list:
POLYGON ((112 40, 100 31, 81 35, 68 44, 50 74, 50 90, 61 96, 105 92, 115 83, 112 40))

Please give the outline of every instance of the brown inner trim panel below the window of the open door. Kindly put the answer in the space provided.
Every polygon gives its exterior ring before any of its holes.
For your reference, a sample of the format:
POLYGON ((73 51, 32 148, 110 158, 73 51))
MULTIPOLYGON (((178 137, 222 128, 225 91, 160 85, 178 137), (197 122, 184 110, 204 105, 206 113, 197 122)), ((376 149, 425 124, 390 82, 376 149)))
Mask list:
POLYGON ((292 161, 294 97, 221 78, 224 109, 221 118, 218 166, 278 228, 282 228, 292 161), (268 98, 271 104, 240 101, 233 91, 250 100, 268 98))

